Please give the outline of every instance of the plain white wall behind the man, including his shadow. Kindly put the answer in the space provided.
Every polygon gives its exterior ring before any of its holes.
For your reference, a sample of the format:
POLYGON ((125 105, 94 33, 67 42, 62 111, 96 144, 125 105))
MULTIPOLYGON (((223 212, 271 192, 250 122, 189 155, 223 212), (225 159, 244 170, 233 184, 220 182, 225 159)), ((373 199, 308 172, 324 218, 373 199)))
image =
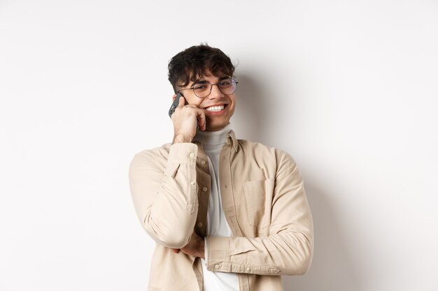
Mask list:
POLYGON ((236 135, 288 151, 316 233, 285 290, 438 290, 438 2, 0 1, 0 290, 146 290, 132 156, 167 62, 237 64, 236 135))

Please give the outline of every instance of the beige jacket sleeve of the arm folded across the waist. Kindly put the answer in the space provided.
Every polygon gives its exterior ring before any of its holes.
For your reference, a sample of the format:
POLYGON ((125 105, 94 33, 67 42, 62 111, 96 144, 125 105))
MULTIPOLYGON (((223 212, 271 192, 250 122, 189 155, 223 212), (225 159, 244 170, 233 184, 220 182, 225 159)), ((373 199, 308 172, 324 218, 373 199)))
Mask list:
POLYGON ((295 161, 281 151, 267 237, 206 237, 209 271, 301 275, 313 255, 313 221, 295 161))

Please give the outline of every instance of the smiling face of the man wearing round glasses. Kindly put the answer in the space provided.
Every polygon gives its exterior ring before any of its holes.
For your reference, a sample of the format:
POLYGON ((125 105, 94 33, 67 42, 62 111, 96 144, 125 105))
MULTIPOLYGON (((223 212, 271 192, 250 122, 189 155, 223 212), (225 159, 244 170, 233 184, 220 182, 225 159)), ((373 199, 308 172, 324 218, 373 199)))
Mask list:
MULTIPOLYGON (((200 77, 197 82, 206 81, 210 84, 217 84, 224 77, 229 76, 214 76, 209 72, 206 75, 200 77)), ((197 82, 190 82, 185 88, 191 88, 197 82)), ((223 91, 223 90, 222 90, 223 91)), ((185 100, 189 104, 197 105, 205 112, 206 116, 206 130, 216 131, 224 128, 229 124, 229 119, 234 114, 234 108, 236 107, 236 96, 233 94, 223 94, 218 85, 213 85, 211 88, 211 94, 205 98, 199 98, 195 95, 192 89, 181 91, 185 100)))

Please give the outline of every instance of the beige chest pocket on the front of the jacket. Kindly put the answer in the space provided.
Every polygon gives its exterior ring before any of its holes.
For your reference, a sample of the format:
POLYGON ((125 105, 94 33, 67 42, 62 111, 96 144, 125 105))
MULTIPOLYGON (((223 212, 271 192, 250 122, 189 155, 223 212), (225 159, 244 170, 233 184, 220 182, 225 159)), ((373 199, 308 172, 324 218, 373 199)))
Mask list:
POLYGON ((243 182, 248 223, 255 227, 271 225, 274 179, 243 182))

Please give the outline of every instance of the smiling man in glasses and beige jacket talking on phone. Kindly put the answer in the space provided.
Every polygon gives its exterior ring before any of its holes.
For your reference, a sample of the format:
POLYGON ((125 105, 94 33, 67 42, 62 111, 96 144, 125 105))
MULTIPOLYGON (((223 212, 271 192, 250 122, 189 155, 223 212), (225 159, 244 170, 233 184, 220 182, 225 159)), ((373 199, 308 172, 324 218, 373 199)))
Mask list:
POLYGON ((174 140, 136 154, 129 169, 136 213, 157 242, 149 290, 283 290, 281 275, 304 274, 313 253, 295 161, 236 139, 234 66, 219 49, 176 54, 169 81, 183 95, 174 140))

